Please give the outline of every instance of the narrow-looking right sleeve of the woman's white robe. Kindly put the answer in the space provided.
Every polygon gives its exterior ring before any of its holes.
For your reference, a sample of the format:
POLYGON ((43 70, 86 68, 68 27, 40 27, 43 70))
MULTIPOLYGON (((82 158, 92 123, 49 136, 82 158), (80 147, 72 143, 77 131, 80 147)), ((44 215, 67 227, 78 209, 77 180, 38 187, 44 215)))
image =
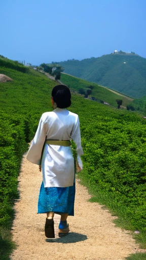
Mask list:
POLYGON ((78 164, 81 167, 81 169, 83 169, 82 160, 81 160, 81 157, 80 157, 83 154, 83 149, 82 149, 82 146, 81 146, 81 134, 80 134, 79 116, 77 116, 77 120, 76 120, 75 125, 74 125, 74 127, 72 129, 71 138, 72 138, 72 140, 74 140, 74 142, 77 145, 78 164))

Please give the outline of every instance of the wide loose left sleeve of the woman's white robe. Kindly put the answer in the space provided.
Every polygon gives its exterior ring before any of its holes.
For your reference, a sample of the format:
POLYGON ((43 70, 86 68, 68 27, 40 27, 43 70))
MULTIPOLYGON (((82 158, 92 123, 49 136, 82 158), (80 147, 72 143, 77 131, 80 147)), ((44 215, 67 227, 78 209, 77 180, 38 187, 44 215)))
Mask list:
POLYGON ((41 117, 38 129, 32 140, 30 148, 27 153, 27 160, 36 165, 41 165, 42 150, 46 139, 46 129, 43 118, 41 117))

